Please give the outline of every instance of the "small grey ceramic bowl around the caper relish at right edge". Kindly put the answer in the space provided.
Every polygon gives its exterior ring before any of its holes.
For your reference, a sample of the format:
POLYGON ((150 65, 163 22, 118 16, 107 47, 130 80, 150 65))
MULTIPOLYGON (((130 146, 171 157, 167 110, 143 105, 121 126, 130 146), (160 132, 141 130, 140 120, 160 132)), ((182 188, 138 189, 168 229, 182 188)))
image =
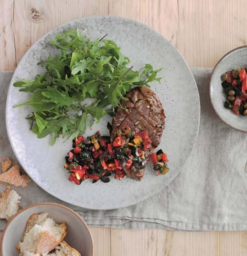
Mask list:
POLYGON ((225 108, 226 95, 221 86, 221 76, 227 71, 237 69, 238 66, 247 67, 247 45, 233 49, 219 60, 212 71, 209 95, 216 114, 225 124, 240 132, 247 132, 247 117, 236 115, 232 110, 225 108))

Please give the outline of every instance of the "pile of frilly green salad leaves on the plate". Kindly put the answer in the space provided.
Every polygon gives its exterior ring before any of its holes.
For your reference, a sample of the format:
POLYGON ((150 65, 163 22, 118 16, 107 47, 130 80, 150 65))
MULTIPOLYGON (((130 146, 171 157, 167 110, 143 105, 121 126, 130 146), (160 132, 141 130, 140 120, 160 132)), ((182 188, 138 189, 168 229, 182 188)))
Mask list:
POLYGON ((120 101, 128 100, 124 95, 131 88, 150 87, 150 82, 161 79, 157 77, 161 69, 146 64, 134 71, 114 41, 105 36, 91 40, 84 32, 77 28, 57 35, 49 43, 61 54, 40 59, 44 73, 14 83, 19 91, 31 93, 28 102, 14 107, 31 106, 26 117, 31 131, 38 138, 51 134, 52 145, 60 134, 74 139, 84 134, 87 125, 92 127, 106 114, 114 115, 120 101))

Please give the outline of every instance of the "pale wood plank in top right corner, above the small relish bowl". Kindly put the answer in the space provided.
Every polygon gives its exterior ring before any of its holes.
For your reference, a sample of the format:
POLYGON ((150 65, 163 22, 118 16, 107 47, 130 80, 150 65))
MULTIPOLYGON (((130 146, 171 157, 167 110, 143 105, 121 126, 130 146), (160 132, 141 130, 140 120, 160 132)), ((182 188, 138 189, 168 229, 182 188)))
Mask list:
POLYGON ((246 1, 178 0, 177 48, 190 66, 210 66, 247 44, 246 1))

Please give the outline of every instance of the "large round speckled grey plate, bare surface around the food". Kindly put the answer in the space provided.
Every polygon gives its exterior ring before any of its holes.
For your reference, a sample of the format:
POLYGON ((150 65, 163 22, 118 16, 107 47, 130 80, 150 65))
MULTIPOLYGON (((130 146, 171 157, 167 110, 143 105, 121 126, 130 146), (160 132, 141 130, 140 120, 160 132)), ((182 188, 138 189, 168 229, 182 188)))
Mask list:
MULTIPOLYGON (((188 158, 198 133, 200 104, 194 77, 181 54, 162 35, 149 27, 120 17, 94 16, 79 18, 67 22, 50 31, 38 40, 24 55, 14 72, 9 86, 6 105, 6 124, 12 148, 25 171, 45 191, 67 203, 90 209, 114 209, 136 204, 168 185, 180 172, 188 158), (37 139, 29 130, 25 116, 30 113, 28 106, 13 108, 13 105, 28 100, 27 93, 18 91, 13 83, 19 78, 34 79, 37 73, 43 72, 40 57, 47 57, 50 52, 56 53, 48 42, 57 33, 78 27, 87 29, 86 35, 92 39, 107 38, 114 40, 124 55, 130 57, 134 69, 150 63, 154 68, 164 67, 159 75, 165 80, 161 84, 151 84, 163 104, 166 114, 166 128, 163 132, 162 148, 170 160, 170 172, 156 177, 151 163, 146 168, 142 181, 129 178, 121 181, 111 179, 109 183, 91 180, 77 186, 68 181, 68 173, 63 168, 64 156, 71 149, 71 141, 63 143, 59 138, 50 146, 50 137, 37 139)), ((107 135, 106 124, 111 121, 105 116, 93 129, 86 130, 86 136, 100 130, 107 135)))

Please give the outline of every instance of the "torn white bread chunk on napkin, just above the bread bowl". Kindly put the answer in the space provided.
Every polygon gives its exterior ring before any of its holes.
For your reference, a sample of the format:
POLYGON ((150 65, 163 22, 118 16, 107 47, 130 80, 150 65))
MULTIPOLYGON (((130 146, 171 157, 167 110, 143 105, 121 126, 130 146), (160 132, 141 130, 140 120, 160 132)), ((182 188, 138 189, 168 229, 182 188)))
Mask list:
POLYGON ((19 209, 21 197, 15 190, 8 186, 4 192, 1 192, 0 198, 0 219, 9 220, 19 209))

